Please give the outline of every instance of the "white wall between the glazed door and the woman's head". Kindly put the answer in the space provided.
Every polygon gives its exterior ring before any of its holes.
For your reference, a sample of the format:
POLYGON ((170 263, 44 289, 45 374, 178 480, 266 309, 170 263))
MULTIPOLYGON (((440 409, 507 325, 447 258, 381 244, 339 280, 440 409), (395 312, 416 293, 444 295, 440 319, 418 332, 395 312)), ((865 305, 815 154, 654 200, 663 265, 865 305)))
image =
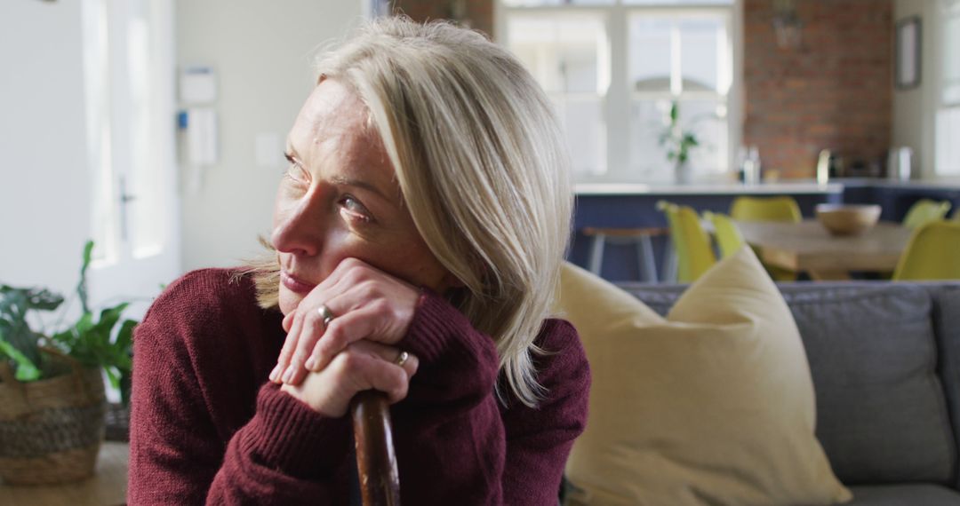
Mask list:
MULTIPOLYGON (((360 0, 178 0, 180 65, 217 73, 220 160, 203 187, 184 190, 181 230, 185 270, 237 265, 269 235, 273 199, 284 168, 282 141, 313 85, 313 50, 349 33, 360 0), (258 167, 254 139, 278 134, 276 166, 258 167)), ((189 174, 181 173, 188 181, 189 174)))

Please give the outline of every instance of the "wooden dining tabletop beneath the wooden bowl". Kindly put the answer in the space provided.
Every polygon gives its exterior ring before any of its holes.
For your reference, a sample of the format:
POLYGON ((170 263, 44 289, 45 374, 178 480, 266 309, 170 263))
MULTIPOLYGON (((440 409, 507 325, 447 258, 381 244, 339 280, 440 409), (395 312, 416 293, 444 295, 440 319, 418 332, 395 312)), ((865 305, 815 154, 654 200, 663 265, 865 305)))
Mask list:
POLYGON ((815 219, 800 223, 737 221, 743 239, 760 259, 815 280, 849 279, 850 271, 892 272, 912 231, 880 221, 859 236, 832 236, 815 219))

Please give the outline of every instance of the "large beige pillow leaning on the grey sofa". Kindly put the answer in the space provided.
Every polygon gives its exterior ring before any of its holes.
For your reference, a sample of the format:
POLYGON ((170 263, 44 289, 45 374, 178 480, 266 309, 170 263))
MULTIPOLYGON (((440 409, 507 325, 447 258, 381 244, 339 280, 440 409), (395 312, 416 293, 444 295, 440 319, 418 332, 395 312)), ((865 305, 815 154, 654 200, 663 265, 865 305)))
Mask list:
POLYGON ((711 268, 666 319, 566 265, 561 311, 593 374, 569 504, 830 504, 851 494, 814 436, 797 325, 750 248, 711 268))

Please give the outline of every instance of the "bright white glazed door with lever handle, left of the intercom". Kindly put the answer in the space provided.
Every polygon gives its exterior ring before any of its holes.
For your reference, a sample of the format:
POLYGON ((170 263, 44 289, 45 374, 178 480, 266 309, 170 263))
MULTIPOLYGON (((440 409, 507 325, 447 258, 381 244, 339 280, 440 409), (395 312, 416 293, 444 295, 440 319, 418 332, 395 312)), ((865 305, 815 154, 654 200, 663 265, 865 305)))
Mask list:
POLYGON ((156 256, 169 242, 164 196, 172 127, 157 0, 84 0, 87 152, 95 265, 156 256))

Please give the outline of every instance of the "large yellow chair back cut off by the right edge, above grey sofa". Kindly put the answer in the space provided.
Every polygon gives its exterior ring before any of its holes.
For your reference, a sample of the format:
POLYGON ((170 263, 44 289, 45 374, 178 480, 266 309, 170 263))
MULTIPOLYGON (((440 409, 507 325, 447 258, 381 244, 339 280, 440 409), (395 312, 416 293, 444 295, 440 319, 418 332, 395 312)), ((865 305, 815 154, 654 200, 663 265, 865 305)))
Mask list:
POLYGON ((960 280, 960 222, 930 221, 914 231, 893 279, 960 280))

